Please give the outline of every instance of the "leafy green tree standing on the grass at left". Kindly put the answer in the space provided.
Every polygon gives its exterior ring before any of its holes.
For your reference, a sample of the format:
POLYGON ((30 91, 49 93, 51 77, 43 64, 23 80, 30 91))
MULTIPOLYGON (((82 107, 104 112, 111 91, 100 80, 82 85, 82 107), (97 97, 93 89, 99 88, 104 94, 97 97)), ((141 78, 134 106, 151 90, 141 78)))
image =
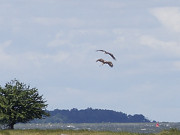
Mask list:
POLYGON ((0 123, 14 129, 16 123, 26 123, 33 119, 49 116, 47 104, 38 89, 14 79, 0 86, 0 123))

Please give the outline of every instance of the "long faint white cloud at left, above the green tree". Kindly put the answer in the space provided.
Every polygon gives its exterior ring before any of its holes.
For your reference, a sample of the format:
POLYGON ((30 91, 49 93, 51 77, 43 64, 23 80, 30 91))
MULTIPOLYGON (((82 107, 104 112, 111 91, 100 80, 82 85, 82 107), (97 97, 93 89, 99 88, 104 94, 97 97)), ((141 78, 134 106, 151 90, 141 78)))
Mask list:
POLYGON ((69 54, 59 51, 55 54, 42 52, 10 53, 7 50, 12 46, 12 40, 0 43, 0 63, 2 68, 14 70, 27 70, 29 68, 42 68, 44 65, 59 64, 68 59, 69 54))

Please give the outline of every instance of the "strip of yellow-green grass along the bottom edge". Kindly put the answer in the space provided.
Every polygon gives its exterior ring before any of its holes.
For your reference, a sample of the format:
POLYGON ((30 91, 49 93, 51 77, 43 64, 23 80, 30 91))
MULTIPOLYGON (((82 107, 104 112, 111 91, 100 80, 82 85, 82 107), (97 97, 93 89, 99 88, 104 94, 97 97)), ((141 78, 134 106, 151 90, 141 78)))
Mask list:
POLYGON ((140 134, 87 130, 0 130, 0 135, 180 135, 180 131, 171 129, 156 134, 140 134))

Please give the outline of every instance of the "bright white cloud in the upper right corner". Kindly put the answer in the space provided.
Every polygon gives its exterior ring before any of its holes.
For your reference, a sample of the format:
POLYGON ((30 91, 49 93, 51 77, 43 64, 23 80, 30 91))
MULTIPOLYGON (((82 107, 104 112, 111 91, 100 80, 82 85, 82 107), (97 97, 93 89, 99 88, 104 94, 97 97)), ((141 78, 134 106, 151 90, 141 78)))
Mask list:
POLYGON ((180 8, 162 7, 151 10, 151 13, 169 30, 180 32, 180 8))

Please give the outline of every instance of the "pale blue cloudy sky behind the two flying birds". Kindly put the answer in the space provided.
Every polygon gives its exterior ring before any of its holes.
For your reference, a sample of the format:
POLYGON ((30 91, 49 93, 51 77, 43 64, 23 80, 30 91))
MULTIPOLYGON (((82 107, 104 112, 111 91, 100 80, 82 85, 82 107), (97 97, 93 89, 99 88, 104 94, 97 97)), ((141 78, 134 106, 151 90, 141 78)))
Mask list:
POLYGON ((0 63, 1 86, 36 87, 49 110, 180 122, 180 1, 0 0, 0 63))

